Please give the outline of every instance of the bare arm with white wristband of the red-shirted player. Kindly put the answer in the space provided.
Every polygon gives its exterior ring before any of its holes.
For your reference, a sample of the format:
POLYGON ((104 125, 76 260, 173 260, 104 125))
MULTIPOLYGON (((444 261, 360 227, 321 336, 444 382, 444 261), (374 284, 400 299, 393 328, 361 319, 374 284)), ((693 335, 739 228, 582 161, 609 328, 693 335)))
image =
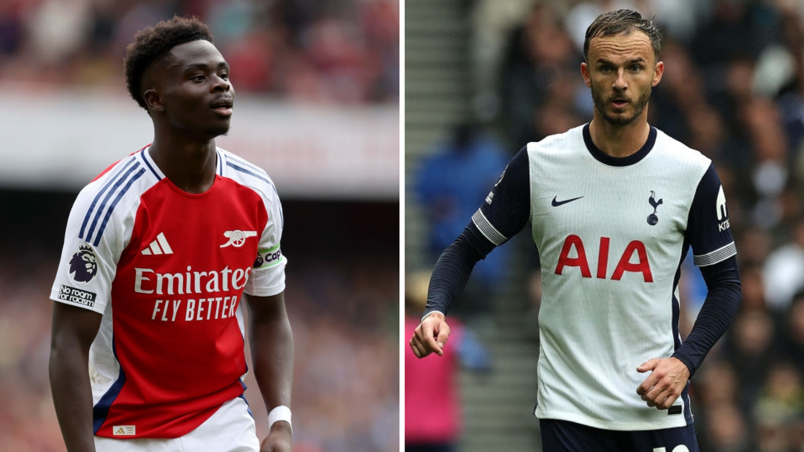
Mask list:
MULTIPOLYGON (((269 412, 290 407, 293 387, 293 331, 285 310, 285 292, 268 297, 246 296, 249 322, 248 339, 252 351, 254 377, 269 412)), ((291 427, 276 421, 260 452, 289 452, 291 427)))

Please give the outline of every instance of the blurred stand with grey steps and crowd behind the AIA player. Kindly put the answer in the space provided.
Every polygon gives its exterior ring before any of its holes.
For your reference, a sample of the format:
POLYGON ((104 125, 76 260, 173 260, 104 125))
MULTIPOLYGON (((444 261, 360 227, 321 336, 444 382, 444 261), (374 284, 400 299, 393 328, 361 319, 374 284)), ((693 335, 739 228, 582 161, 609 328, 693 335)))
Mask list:
MULTIPOLYGON (((804 2, 408 0, 405 272, 433 265, 431 207, 417 190, 429 157, 467 120, 506 159, 525 142, 589 121, 580 44, 599 12, 620 6, 662 25, 666 70, 649 121, 716 163, 737 242, 740 310, 693 381, 701 450, 804 450, 804 2)), ((481 202, 462 212, 465 222, 481 202)), ((538 266, 527 233, 504 246, 514 253, 496 296, 456 313, 492 361, 487 374, 457 375, 462 452, 540 450, 531 416, 538 266)), ((686 334, 705 286, 684 265, 686 334)), ((406 416, 417 409, 425 408, 405 406, 406 416)))

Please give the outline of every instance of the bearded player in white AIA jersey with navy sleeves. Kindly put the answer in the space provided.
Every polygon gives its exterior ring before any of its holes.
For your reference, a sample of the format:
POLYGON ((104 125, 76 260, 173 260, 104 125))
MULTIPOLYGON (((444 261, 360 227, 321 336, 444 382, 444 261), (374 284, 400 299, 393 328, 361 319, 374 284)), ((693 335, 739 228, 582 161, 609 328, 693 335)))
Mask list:
POLYGON ((444 316, 474 263, 528 225, 542 275, 534 413, 546 451, 698 450, 689 378, 739 305, 715 167, 646 121, 663 71, 658 37, 632 10, 589 27, 581 72, 593 121, 511 159, 441 254, 411 339, 416 355, 441 355, 444 316), (682 340, 678 284, 690 249, 708 295, 682 340))

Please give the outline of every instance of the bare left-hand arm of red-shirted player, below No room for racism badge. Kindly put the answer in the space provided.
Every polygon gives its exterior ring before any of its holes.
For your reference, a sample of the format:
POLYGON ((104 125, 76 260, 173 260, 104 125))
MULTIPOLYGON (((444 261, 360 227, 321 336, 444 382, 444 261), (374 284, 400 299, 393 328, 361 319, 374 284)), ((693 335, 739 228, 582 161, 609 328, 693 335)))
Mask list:
POLYGON ((89 347, 100 327, 101 314, 79 306, 53 302, 50 383, 59 427, 68 452, 95 450, 89 347))

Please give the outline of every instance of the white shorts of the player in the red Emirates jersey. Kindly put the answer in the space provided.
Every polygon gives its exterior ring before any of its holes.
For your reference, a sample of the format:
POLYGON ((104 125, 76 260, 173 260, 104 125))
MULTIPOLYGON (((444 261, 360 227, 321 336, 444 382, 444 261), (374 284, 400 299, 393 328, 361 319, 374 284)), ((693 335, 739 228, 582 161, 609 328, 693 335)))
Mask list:
POLYGON ((243 397, 224 403, 207 421, 180 438, 95 437, 97 452, 259 452, 254 418, 243 397))

